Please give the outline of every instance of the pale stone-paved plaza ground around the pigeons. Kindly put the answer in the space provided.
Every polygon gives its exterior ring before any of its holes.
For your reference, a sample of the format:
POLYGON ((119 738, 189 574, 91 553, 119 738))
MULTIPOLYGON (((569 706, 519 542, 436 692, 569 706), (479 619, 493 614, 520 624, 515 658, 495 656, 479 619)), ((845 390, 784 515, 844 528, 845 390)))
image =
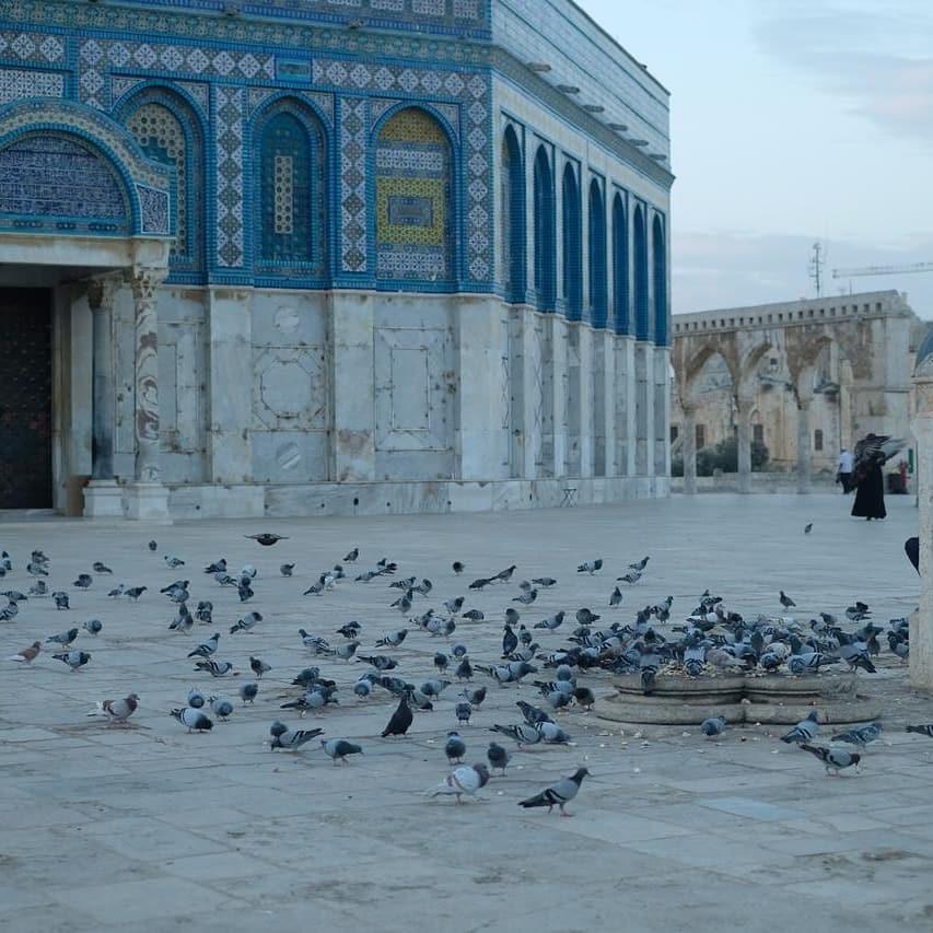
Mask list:
MULTIPOLYGON (((902 726, 933 721, 933 700, 908 688, 886 649, 876 679, 864 676, 865 692, 884 696, 887 712, 861 774, 828 779, 812 756, 778 742, 774 728, 736 727, 709 742, 696 728, 625 728, 574 709, 558 715, 572 748, 516 753, 497 736, 513 753, 506 777, 492 779, 483 802, 457 806, 422 792, 448 772, 442 749, 456 726, 459 688, 451 686, 434 712, 417 714, 408 737, 382 739, 395 701, 377 689, 358 702, 350 688, 364 665, 314 660, 298 635, 304 627, 339 643, 335 629, 358 619, 371 649, 404 622, 388 608, 397 591, 385 578, 302 596, 353 546, 359 569, 388 556, 399 564, 396 579, 433 581, 418 613, 516 563, 510 585, 467 599, 487 618, 460 622, 451 641, 464 642, 474 663, 498 657, 515 584, 543 574, 559 583, 523 609, 528 623, 581 606, 603 611, 605 623, 628 621, 668 594, 673 623, 707 587, 746 615, 778 613, 781 588, 804 620, 855 598, 882 622, 909 614, 919 580, 901 547, 914 533, 913 500, 889 498, 879 523, 849 518, 850 505, 828 494, 707 495, 174 527, 0 523, 0 547, 14 561, 0 585, 25 592, 27 556, 42 548, 51 558, 49 588, 68 590, 72 606, 57 611, 48 598, 30 599, 14 621, 0 622, 0 930, 931 929, 933 742, 902 726), (814 530, 804 536, 806 522, 814 530), (260 548, 243 537, 267 529, 289 540, 260 548), (147 549, 151 537, 158 553, 147 549), (186 565, 168 570, 165 553, 186 565), (644 555, 644 579, 621 584, 623 605, 608 610, 615 578, 644 555), (220 557, 234 572, 247 561, 258 568, 247 608, 265 618, 250 633, 228 634, 243 613, 236 591, 201 572, 220 557), (600 574, 574 572, 594 557, 606 560, 600 574), (467 564, 460 579, 454 559, 467 564), (74 590, 94 560, 114 578, 95 575, 86 593, 74 590), (293 579, 279 575, 284 561, 296 562, 293 579), (174 607, 159 588, 177 578, 191 580, 193 608, 213 600, 214 626, 188 637, 168 631, 174 607), (150 590, 138 604, 107 599, 114 582, 150 590), (31 668, 3 660, 94 617, 104 628, 77 640, 93 655, 78 673, 51 651, 31 668), (212 679, 186 660, 212 631, 222 632, 217 657, 234 662, 238 677, 212 679), (170 718, 193 686, 236 699, 238 684, 253 679, 250 654, 273 668, 254 707, 236 700, 230 722, 202 735, 170 718), (296 754, 268 747, 277 715, 299 725, 278 707, 296 696, 288 685, 312 663, 341 686, 340 705, 301 724, 359 740, 364 754, 346 767, 334 767, 316 742, 296 754), (141 698, 135 727, 86 715, 96 700, 130 691, 141 698), (573 819, 516 806, 579 765, 592 777, 570 806, 573 819)), ((545 633, 543 648, 562 644, 572 628, 569 619, 545 633)), ((412 631, 389 652, 396 673, 420 684, 450 643, 412 631)), ((485 760, 493 722, 520 721, 515 699, 536 700, 530 684, 500 688, 483 675, 477 683, 489 683, 489 697, 463 730, 470 762, 485 760)), ((610 689, 602 673, 582 683, 597 695, 610 689)))

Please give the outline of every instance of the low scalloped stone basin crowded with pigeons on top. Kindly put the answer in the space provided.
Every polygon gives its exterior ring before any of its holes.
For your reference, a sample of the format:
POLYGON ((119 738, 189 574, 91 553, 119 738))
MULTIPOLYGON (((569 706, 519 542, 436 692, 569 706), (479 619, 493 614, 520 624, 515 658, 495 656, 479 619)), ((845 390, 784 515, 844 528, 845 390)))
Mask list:
POLYGON ((655 691, 645 697, 637 674, 616 677, 616 692, 596 704, 600 719, 646 725, 699 725, 710 716, 727 723, 793 725, 814 709, 819 722, 867 722, 880 715, 880 703, 859 693, 865 678, 854 674, 794 677, 680 677, 661 675, 655 691))

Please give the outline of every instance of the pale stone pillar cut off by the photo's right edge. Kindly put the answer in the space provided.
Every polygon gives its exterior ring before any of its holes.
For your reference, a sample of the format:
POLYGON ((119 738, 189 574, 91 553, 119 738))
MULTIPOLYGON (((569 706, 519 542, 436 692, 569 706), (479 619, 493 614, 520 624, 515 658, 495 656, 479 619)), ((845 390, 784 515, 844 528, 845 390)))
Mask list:
POLYGON ((910 684, 933 690, 933 358, 913 375, 910 430, 917 442, 917 505, 920 536, 920 607, 910 617, 910 684))

